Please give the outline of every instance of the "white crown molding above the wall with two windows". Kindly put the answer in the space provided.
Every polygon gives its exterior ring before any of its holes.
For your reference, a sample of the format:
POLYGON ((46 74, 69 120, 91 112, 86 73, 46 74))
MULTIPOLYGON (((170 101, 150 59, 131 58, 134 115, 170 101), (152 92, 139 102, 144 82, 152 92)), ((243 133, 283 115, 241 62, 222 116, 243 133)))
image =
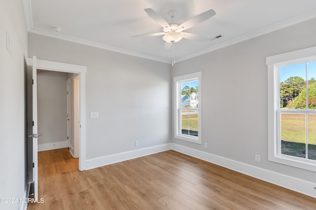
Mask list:
POLYGON ((188 60, 188 59, 191 59, 191 58, 194 58, 194 57, 197 57, 197 56, 200 56, 200 55, 203 55, 203 54, 206 54, 206 53, 209 53, 209 52, 212 52, 212 51, 224 48, 224 47, 228 47, 230 45, 237 44, 239 42, 243 42, 243 41, 246 41, 246 40, 249 40, 249 39, 252 39, 252 38, 255 38, 255 37, 276 31, 276 30, 284 29, 286 27, 293 26, 295 24, 302 23, 304 21, 308 21, 308 20, 311 20, 314 18, 316 18, 316 10, 309 12, 309 13, 306 13, 306 14, 301 15, 301 16, 283 21, 283 22, 275 24, 273 26, 270 26, 270 27, 267 27, 267 28, 264 28, 261 30, 256 30, 254 32, 248 33, 248 34, 243 35, 243 36, 239 36, 235 39, 232 39, 232 40, 226 41, 224 43, 206 48, 204 50, 201 50, 201 51, 198 51, 195 53, 191 53, 191 54, 186 55, 186 56, 179 57, 179 58, 177 58, 177 61, 180 62, 183 60, 188 60))

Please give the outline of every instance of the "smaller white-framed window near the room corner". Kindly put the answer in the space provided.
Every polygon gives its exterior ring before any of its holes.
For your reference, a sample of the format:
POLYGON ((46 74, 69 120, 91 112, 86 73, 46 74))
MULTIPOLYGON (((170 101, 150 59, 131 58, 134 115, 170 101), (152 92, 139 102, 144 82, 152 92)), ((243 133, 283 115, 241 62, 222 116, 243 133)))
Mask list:
POLYGON ((175 138, 201 144, 201 72, 174 77, 175 138))

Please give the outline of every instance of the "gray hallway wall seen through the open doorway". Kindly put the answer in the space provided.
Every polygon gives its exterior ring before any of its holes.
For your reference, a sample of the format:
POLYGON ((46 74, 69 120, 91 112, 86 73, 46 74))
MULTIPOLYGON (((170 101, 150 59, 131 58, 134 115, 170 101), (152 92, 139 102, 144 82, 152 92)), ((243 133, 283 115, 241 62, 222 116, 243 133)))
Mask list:
POLYGON ((38 144, 67 141, 68 73, 38 70, 38 144))

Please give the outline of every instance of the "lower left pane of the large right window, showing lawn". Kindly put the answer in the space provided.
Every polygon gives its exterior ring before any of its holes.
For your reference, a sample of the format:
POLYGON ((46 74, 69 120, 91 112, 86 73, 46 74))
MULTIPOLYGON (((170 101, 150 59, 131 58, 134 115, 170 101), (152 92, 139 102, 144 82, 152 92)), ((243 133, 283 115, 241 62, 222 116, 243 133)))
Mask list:
POLYGON ((306 157, 305 114, 281 114, 281 153, 306 157))

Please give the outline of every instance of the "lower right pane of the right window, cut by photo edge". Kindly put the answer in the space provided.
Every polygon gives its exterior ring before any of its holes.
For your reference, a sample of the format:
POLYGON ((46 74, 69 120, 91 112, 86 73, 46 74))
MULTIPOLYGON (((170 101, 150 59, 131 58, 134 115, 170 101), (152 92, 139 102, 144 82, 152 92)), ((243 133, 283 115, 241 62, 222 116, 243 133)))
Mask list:
POLYGON ((316 160, 316 115, 308 115, 308 159, 316 160))

